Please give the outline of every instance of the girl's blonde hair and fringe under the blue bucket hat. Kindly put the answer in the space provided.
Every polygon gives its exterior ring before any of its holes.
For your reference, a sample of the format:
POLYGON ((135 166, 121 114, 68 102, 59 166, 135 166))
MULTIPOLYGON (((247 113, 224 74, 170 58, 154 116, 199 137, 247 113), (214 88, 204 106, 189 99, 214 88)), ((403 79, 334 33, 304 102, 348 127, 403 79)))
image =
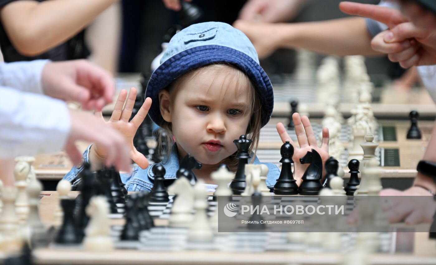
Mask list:
MULTIPOLYGON (((250 111, 252 112, 252 114, 245 135, 247 139, 251 139, 253 141, 249 149, 250 153, 253 154, 252 160, 250 161, 252 162, 254 160, 254 153, 257 151, 257 147, 259 145, 260 128, 262 127, 262 119, 261 119, 262 103, 261 103, 260 96, 257 90, 255 89, 255 86, 253 85, 251 79, 249 79, 249 77, 244 72, 242 72, 241 69, 229 63, 214 63, 214 64, 201 66, 199 68, 192 69, 184 73, 182 76, 175 79, 174 82, 171 83, 166 89, 170 94, 173 94, 175 91, 177 91, 177 88, 179 87, 181 80, 184 80, 189 77, 190 80, 194 79, 196 75, 201 74, 205 70, 210 70, 210 69, 215 70, 217 72, 226 71, 226 76, 228 76, 227 78, 232 78, 233 80, 231 81, 235 81, 235 82, 228 82, 228 83, 235 85, 235 87, 240 87, 239 84, 248 86, 249 98, 251 99, 251 104, 249 104, 249 106, 251 106, 250 111)), ((226 91, 228 91, 228 89, 226 89, 226 91)), ((242 91, 240 91, 239 93, 242 93, 242 91)), ((170 122, 167 122, 165 120, 162 120, 162 122, 158 125, 161 128, 163 128, 166 132, 165 137, 162 137, 161 135, 157 136, 158 150, 164 151, 162 150, 162 147, 167 146, 167 150, 165 150, 167 151, 167 156, 164 159, 165 161, 168 159, 169 154, 171 152, 171 148, 173 148, 173 144, 174 144, 172 126, 170 122)), ((236 152, 230 155, 228 158, 225 158, 223 161, 221 161, 221 163, 228 165, 230 170, 234 172, 236 171, 238 166, 238 160, 235 158, 235 155, 236 152)))

